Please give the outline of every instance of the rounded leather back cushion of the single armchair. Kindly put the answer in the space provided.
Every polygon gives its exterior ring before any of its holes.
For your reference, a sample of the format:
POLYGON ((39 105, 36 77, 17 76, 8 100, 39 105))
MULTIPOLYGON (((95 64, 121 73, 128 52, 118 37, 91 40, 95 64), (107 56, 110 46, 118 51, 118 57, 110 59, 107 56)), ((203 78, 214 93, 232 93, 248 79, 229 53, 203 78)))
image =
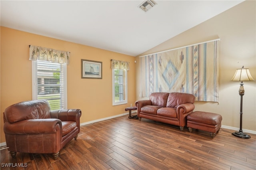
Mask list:
POLYGON ((50 105, 46 100, 24 101, 7 107, 4 115, 9 123, 28 119, 48 119, 50 105))

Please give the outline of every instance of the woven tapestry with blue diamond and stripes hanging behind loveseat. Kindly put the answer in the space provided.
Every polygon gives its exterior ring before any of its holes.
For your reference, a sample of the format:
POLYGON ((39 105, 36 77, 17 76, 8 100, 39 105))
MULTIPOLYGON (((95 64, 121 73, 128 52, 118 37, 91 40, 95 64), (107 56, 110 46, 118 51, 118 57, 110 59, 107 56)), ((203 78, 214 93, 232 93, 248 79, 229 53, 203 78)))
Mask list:
POLYGON ((140 57, 140 97, 180 92, 218 102, 218 52, 219 40, 212 40, 140 57))

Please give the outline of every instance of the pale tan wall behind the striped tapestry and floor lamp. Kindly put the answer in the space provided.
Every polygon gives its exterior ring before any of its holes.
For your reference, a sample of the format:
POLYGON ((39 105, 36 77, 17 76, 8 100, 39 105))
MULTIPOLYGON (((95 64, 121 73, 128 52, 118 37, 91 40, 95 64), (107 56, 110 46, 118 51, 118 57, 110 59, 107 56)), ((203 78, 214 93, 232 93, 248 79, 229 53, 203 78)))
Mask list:
MULTIPOLYGON (((197 111, 208 111, 222 115, 222 125, 239 128, 240 82, 230 81, 237 68, 243 65, 250 69, 256 79, 256 1, 245 1, 233 8, 171 38, 139 56, 174 49, 195 43, 220 38, 220 102, 196 102, 197 111)), ((136 57, 136 82, 140 82, 140 62, 136 57)), ((256 81, 244 82, 243 129, 256 130, 256 81)), ((136 83, 136 99, 139 97, 136 83)))

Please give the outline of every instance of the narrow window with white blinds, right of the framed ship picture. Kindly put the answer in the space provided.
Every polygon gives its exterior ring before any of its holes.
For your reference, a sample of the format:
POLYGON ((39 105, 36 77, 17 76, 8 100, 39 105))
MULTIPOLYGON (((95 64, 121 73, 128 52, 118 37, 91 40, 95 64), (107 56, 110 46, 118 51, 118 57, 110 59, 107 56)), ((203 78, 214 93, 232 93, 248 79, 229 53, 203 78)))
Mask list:
POLYGON ((127 103, 127 71, 112 69, 112 105, 127 103))

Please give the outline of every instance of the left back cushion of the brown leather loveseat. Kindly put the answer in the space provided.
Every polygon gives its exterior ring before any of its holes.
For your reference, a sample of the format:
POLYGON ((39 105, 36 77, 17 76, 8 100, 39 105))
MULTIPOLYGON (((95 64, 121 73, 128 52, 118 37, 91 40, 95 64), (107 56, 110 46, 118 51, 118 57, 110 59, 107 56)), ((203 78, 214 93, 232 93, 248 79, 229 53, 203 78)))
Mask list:
POLYGON ((168 95, 169 93, 163 92, 151 93, 149 99, 151 100, 151 103, 154 106, 166 107, 168 95))

